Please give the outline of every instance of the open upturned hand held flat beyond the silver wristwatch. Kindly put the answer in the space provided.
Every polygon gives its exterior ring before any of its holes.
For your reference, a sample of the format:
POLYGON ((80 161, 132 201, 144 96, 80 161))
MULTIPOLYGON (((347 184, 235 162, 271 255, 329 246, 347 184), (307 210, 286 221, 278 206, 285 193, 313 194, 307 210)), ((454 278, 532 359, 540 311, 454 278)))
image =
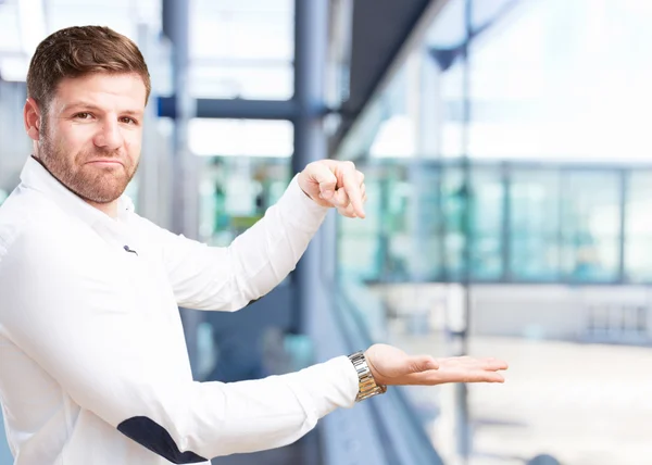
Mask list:
POLYGON ((501 369, 507 364, 496 359, 408 355, 387 344, 374 344, 365 352, 367 365, 379 385, 442 385, 444 382, 503 382, 501 369))

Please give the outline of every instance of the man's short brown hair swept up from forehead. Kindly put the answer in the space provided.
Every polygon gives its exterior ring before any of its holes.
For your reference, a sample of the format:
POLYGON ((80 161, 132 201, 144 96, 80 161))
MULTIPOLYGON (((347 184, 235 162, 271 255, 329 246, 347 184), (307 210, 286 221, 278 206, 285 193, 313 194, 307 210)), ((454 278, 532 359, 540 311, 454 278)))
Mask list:
POLYGON ((47 112, 59 83, 91 73, 136 73, 151 91, 150 75, 136 43, 103 26, 67 27, 41 41, 27 72, 27 97, 47 112))

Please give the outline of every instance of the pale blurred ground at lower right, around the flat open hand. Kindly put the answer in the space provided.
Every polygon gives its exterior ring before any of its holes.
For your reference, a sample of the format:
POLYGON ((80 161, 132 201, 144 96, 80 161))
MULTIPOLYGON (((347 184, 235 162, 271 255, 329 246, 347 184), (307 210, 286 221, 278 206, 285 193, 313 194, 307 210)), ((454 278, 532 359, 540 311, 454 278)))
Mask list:
MULTIPOLYGON (((432 336, 397 343, 439 356, 444 350, 432 336)), ((563 465, 652 464, 652 349, 476 337, 469 351, 504 359, 510 369, 504 385, 471 386, 468 465, 523 465, 540 454, 563 465)), ((418 409, 440 413, 428 426, 447 464, 462 463, 454 460, 451 387, 412 397, 418 409)))

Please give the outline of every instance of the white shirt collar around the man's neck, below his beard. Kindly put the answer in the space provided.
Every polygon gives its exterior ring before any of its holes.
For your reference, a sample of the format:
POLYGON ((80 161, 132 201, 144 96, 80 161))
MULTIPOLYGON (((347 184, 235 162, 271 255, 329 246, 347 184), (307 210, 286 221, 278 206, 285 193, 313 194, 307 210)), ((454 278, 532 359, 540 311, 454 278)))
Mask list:
MULTIPOLYGON (((67 213, 80 217, 90 226, 97 223, 105 225, 115 221, 104 212, 86 203, 79 196, 72 192, 59 179, 50 174, 34 156, 29 156, 21 173, 23 186, 37 190, 51 198, 67 213), (109 223, 108 223, 109 222, 109 223)), ((117 202, 117 218, 123 219, 134 211, 134 202, 126 194, 121 196, 117 202)))

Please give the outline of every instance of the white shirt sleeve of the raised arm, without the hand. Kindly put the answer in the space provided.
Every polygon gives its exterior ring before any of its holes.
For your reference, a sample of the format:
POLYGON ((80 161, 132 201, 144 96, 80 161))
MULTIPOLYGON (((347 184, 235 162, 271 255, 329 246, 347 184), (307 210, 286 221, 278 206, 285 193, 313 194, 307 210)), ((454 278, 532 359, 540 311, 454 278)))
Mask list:
POLYGON ((140 218, 158 238, 179 306, 236 311, 269 292, 294 267, 328 209, 292 179, 279 201, 229 247, 208 247, 140 218))

